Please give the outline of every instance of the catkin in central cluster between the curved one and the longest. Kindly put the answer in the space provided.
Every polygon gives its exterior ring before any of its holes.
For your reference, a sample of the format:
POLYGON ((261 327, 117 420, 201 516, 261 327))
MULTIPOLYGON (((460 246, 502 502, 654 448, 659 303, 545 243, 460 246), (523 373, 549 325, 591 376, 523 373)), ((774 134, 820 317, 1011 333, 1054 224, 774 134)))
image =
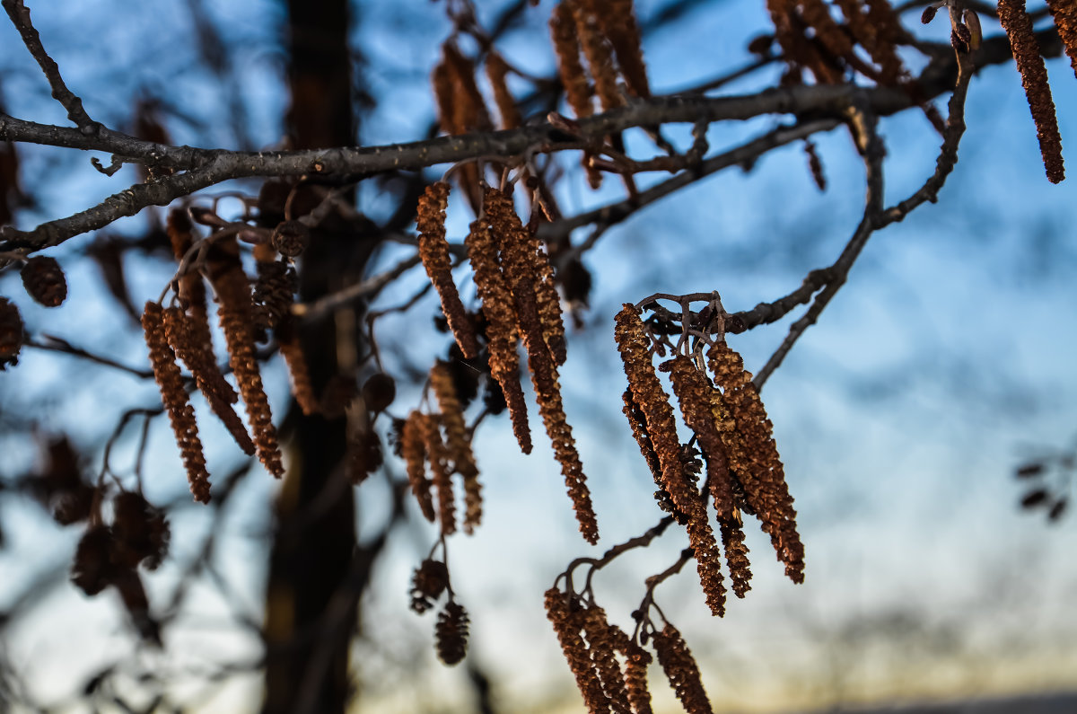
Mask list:
POLYGON ((516 311, 513 294, 501 274, 498 248, 490 225, 475 221, 464 241, 467 259, 475 271, 475 287, 482 301, 482 315, 487 320, 489 338, 490 373, 501 385, 513 423, 513 432, 520 451, 531 453, 531 430, 528 427, 528 408, 520 387, 520 363, 516 354, 516 311))

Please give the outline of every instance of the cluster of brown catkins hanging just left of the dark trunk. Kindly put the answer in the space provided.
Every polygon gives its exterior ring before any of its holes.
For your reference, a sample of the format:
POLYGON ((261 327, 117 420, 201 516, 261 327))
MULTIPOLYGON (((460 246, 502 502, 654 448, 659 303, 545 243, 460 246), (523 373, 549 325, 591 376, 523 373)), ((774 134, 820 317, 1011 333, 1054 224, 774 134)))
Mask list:
MULTIPOLYGON (((278 226, 270 244, 256 246, 258 274, 252 286, 243 271, 235 235, 216 237, 211 233, 208 237, 199 237, 190 216, 183 209, 169 214, 168 236, 182 267, 173 284, 176 300, 168 307, 146 302, 142 329, 191 492, 196 500, 208 503, 209 473, 190 401, 188 380, 183 376, 178 361, 190 370, 195 386, 239 448, 249 455, 257 454, 266 470, 275 477, 283 476, 284 467, 269 401, 262 386, 256 342, 267 340, 271 333, 288 363, 293 394, 304 413, 314 413, 319 404, 289 312, 295 291, 295 273, 290 259, 303 245, 296 238, 298 232, 278 226), (281 253, 279 260, 278 252, 281 253), (213 354, 204 278, 208 278, 218 303, 218 319, 238 394, 224 379, 213 354), (247 408, 250 430, 234 408, 240 398, 247 408)), ((201 222, 212 224, 205 219, 201 222)))

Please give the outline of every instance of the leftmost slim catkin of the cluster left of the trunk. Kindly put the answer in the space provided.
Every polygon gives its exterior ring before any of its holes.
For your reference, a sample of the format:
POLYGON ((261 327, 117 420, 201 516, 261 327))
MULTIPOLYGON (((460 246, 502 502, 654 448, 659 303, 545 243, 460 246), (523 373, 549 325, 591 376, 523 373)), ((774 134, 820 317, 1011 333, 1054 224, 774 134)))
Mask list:
POLYGON ((198 438, 195 411, 187 401, 183 376, 176 365, 176 354, 168 346, 164 311, 157 303, 145 303, 142 330, 145 332, 145 343, 150 347, 153 376, 160 388, 160 399, 168 411, 168 421, 172 425, 176 443, 180 448, 183 465, 187 470, 191 493, 194 494, 195 500, 209 503, 209 472, 206 470, 206 457, 202 455, 201 440, 198 438))

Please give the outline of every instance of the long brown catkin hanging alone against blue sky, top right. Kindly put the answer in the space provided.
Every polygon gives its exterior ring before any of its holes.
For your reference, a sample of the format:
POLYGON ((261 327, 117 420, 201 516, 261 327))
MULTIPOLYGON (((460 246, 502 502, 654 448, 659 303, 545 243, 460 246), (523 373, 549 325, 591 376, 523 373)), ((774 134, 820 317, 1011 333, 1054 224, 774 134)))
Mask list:
POLYGON ((1032 18, 1024 11, 1024 0, 999 0, 998 22, 1009 36, 1013 59, 1021 72, 1021 84, 1036 123, 1039 153, 1044 156, 1047 179, 1058 183, 1065 178, 1062 163, 1062 137, 1054 115, 1054 100, 1047 83, 1047 67, 1039 54, 1039 43, 1032 29, 1032 18))

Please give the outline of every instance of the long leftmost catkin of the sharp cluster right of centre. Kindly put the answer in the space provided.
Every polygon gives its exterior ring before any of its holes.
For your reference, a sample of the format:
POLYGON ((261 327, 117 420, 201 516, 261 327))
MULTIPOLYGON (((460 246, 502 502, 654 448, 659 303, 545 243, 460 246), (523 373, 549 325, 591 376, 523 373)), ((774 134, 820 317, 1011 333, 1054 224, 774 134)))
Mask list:
POLYGON ((635 403, 646 418, 647 430, 662 468, 662 486, 673 505, 687 519, 688 540, 695 551, 696 568, 707 604, 714 615, 725 614, 725 588, 722 585, 722 560, 717 541, 711 531, 707 509, 688 480, 681 461, 681 442, 676 434, 673 408, 662 389, 651 360, 651 341, 640 313, 625 303, 617 314, 615 338, 625 363, 625 374, 635 403))

